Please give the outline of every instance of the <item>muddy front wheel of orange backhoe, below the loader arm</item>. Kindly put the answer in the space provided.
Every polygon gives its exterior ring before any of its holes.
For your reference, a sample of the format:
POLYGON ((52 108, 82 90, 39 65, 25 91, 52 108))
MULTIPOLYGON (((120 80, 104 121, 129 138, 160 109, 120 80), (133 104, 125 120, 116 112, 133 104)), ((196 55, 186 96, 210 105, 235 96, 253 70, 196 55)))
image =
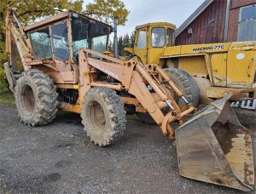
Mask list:
POLYGON ((90 88, 84 94, 82 123, 90 141, 111 145, 125 132, 125 110, 119 95, 110 88, 90 88))

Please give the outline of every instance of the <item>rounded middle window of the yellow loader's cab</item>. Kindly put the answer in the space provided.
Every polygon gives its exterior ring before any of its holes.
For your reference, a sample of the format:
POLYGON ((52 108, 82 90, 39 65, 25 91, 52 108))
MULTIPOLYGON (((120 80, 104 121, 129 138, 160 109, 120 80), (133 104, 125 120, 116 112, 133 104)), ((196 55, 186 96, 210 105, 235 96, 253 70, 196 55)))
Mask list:
POLYGON ((151 46, 152 47, 164 47, 166 40, 166 30, 163 27, 152 28, 151 33, 151 46))

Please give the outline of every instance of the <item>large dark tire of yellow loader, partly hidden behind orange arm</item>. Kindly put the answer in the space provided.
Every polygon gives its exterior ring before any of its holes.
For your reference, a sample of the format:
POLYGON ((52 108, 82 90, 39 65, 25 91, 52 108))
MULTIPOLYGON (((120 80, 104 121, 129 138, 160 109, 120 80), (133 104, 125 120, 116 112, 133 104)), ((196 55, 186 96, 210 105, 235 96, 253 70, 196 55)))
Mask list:
MULTIPOLYGON (((172 81, 183 91, 184 97, 193 105, 198 106, 199 103, 199 88, 195 79, 189 75, 186 71, 182 71, 177 68, 164 69, 166 74, 172 79, 172 81)), ((179 107, 185 105, 182 99, 177 101, 179 107)))

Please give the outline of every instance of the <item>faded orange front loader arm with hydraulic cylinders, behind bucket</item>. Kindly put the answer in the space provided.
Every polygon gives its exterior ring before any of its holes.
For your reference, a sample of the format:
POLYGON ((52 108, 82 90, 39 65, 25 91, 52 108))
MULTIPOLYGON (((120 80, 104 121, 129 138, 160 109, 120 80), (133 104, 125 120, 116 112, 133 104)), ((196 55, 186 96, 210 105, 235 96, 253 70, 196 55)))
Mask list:
MULTIPOLYGON (((177 86, 166 76, 165 72, 160 66, 151 65, 151 71, 143 64, 134 60, 117 60, 105 54, 100 54, 90 49, 81 48, 79 50, 79 71, 80 75, 80 95, 83 94, 93 86, 104 86, 107 88, 118 88, 119 90, 126 90, 129 94, 134 96, 144 111, 153 117, 155 123, 161 126, 164 135, 169 135, 174 139, 174 130, 170 123, 178 121, 183 123, 183 117, 195 111, 195 107, 190 105, 189 101, 185 99, 183 93, 177 86), (90 55, 97 56, 102 60, 91 58, 90 55), (110 83, 97 83, 93 80, 91 71, 96 69, 108 74, 117 80, 118 84, 110 83), (158 77, 154 76, 158 74, 158 77), (186 109, 181 111, 177 106, 177 102, 173 99, 172 95, 168 93, 163 83, 169 84, 170 87, 176 92, 177 96, 182 98, 186 104, 186 109), (148 85, 153 88, 150 92, 148 85), (146 100, 147 99, 147 100, 146 100), (170 112, 163 114, 162 108, 168 107, 170 112)), ((82 99, 79 99, 79 104, 82 99)))

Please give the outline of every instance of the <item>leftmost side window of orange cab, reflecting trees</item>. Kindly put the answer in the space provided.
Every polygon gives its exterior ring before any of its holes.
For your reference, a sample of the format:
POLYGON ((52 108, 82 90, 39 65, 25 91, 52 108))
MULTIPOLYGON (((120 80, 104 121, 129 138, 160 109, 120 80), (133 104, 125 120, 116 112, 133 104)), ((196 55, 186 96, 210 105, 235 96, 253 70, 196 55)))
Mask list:
POLYGON ((30 38, 35 59, 52 57, 49 27, 30 33, 30 38))

